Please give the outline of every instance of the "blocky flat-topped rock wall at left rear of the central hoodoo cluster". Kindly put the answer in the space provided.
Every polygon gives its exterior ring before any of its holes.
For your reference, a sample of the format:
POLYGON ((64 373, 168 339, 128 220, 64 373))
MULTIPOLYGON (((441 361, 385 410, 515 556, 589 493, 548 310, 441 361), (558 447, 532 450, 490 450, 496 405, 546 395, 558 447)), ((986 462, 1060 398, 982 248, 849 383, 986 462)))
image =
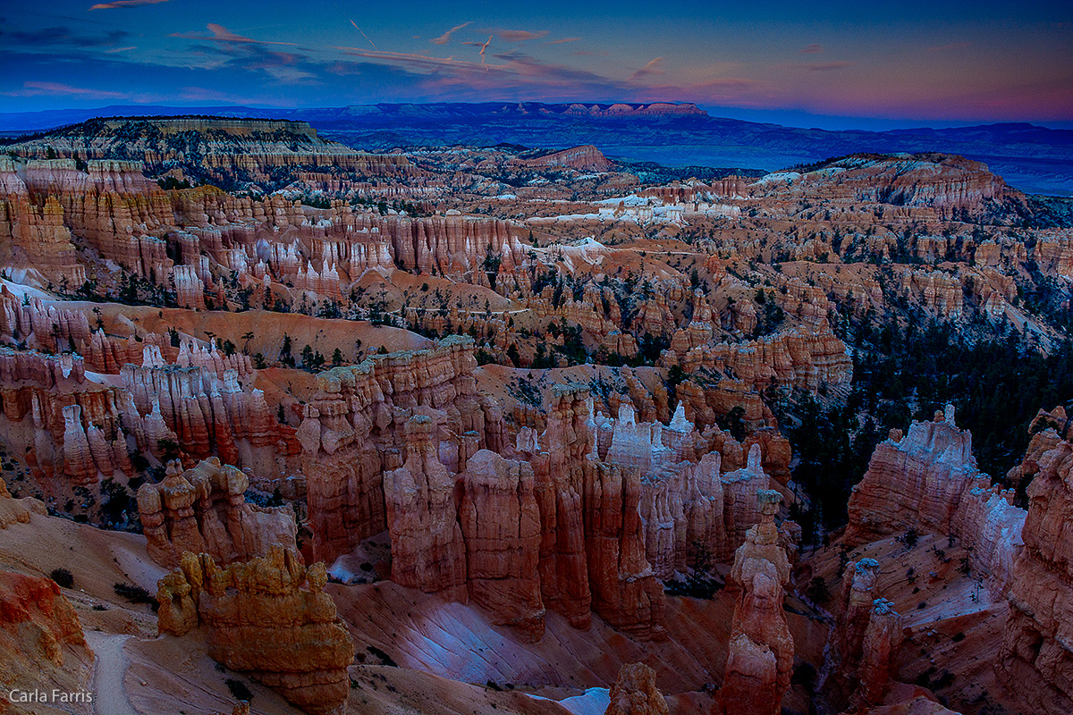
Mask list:
POLYGON ((475 367, 472 341, 451 338, 318 376, 297 433, 317 558, 335 561, 387 527, 383 473, 403 466, 411 417, 431 420, 430 448, 456 471, 501 448, 501 417, 476 392, 475 367))

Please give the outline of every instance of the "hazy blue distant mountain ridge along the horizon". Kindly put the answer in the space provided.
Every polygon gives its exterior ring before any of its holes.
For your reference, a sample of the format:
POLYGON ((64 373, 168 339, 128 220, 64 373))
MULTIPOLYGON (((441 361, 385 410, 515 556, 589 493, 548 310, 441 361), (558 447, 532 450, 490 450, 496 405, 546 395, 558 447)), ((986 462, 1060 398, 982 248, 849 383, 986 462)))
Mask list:
POLYGON ((91 117, 124 115, 305 121, 327 138, 369 151, 500 143, 547 149, 593 145, 612 159, 667 166, 774 170, 862 151, 938 151, 985 162, 1026 192, 1073 195, 1073 131, 1024 122, 833 131, 712 117, 692 103, 441 102, 303 109, 108 106, 0 114, 0 132, 40 131, 91 117))

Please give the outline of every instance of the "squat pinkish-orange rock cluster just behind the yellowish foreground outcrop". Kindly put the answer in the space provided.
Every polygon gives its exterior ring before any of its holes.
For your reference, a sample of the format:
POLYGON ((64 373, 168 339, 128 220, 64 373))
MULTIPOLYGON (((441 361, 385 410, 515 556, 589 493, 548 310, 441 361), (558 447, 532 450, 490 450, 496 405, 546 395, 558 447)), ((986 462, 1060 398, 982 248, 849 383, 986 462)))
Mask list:
POLYGON ((149 556, 177 566, 190 551, 230 564, 266 555, 275 545, 295 549, 291 506, 247 503, 249 485, 245 474, 215 457, 186 472, 178 461, 170 462, 163 481, 143 485, 137 492, 149 556))

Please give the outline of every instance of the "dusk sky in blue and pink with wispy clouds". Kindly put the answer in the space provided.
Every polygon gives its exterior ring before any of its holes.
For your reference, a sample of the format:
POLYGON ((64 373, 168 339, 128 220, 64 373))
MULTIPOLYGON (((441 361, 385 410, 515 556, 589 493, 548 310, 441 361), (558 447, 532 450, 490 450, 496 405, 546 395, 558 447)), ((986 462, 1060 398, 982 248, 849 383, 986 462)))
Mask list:
POLYGON ((0 111, 476 101, 1071 126, 1073 2, 0 3, 0 111))

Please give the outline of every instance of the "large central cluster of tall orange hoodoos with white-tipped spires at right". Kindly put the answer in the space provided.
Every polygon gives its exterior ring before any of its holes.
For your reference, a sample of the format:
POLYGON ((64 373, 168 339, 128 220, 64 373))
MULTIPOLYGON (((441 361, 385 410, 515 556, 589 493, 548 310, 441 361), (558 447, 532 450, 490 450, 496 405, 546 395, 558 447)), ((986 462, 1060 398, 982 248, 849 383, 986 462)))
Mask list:
POLYGON ((764 455, 788 462, 784 441, 701 433, 681 405, 670 424, 637 422, 626 402, 593 418, 587 387, 559 385, 543 431, 523 427, 512 445, 502 411, 475 392, 472 349, 453 339, 319 376, 297 435, 313 556, 335 561, 386 528, 394 581, 471 597, 526 640, 546 609, 662 638, 659 579, 741 543, 770 483, 764 455), (722 456, 746 448, 723 473, 722 456))

